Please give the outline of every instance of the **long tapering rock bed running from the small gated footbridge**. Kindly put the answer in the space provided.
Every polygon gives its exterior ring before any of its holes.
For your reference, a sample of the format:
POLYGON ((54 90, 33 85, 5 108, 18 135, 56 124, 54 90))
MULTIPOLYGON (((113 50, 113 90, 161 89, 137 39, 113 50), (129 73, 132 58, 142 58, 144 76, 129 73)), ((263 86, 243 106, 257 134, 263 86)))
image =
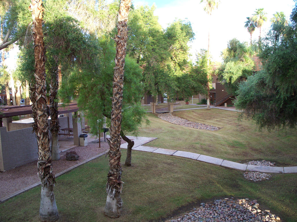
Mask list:
POLYGON ((167 122, 180 125, 180 126, 186 126, 190 128, 196 128, 196 129, 204 129, 204 130, 218 130, 219 128, 216 126, 210 126, 203 123, 195 123, 192 121, 185 120, 183 118, 179 118, 177 116, 173 116, 171 113, 160 113, 158 114, 158 117, 162 120, 165 120, 167 122))

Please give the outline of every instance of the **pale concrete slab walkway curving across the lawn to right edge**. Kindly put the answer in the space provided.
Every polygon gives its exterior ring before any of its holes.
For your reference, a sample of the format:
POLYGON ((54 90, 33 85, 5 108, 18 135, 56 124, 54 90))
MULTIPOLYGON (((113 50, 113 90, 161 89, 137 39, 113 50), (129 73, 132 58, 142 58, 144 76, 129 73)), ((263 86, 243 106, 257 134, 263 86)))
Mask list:
MULTIPOLYGON (((192 160, 198 160, 205 163, 211 163, 214 165, 219 165, 231 169, 236 170, 243 170, 243 171, 255 171, 255 172, 262 172, 262 173, 297 173, 297 166, 292 167, 274 167, 274 166, 256 166, 256 165, 247 165, 242 163, 236 163, 229 160, 223 160, 216 157, 210 157, 198 153, 192 152, 185 152, 180 150, 174 149, 163 149, 157 147, 147 147, 143 146, 154 139, 155 137, 135 137, 135 136, 128 136, 129 139, 134 139, 134 146, 133 150, 137 151, 144 151, 144 152, 151 152, 151 153, 158 153, 170 156, 177 156, 177 157, 184 157, 189 158, 192 160)), ((128 143, 121 144, 122 149, 127 149, 128 143)))

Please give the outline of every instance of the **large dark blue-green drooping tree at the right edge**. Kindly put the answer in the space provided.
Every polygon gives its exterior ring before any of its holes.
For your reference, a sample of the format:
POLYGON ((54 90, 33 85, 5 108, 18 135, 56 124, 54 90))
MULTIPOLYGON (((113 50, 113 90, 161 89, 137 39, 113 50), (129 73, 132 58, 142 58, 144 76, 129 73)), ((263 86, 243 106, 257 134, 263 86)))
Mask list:
POLYGON ((286 26, 282 23, 281 29, 272 26, 261 43, 263 70, 239 86, 235 106, 244 110, 260 128, 296 126, 296 24, 297 4, 291 14, 291 24, 286 26))

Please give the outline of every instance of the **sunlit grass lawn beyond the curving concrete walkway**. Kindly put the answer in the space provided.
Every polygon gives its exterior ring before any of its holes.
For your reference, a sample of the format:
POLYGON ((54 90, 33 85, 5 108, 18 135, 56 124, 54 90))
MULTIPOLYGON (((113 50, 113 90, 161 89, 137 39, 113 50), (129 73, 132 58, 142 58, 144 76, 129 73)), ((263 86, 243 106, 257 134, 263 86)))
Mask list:
POLYGON ((158 137, 146 144, 177 149, 231 161, 269 160, 278 166, 297 165, 297 130, 259 132, 251 121, 238 121, 238 112, 198 109, 173 112, 173 115, 220 127, 206 131, 174 125, 148 114, 150 126, 140 129, 140 136, 158 137))

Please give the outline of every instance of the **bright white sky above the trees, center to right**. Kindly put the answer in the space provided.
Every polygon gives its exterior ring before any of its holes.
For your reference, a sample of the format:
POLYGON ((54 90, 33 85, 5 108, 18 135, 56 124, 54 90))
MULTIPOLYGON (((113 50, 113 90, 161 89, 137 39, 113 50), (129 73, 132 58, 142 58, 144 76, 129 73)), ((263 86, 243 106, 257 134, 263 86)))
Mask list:
MULTIPOLYGON (((110 1, 110 0, 108 0, 110 1)), ((258 8, 264 8, 267 13, 267 22, 261 28, 263 37, 270 28, 270 19, 275 12, 284 12, 287 20, 295 6, 293 0, 221 0, 218 9, 211 15, 211 21, 203 10, 203 3, 200 0, 133 0, 134 6, 155 4, 157 9, 154 15, 159 17, 159 23, 163 29, 175 19, 188 20, 192 24, 195 39, 190 43, 190 53, 195 58, 196 52, 200 49, 207 49, 208 27, 210 27, 210 54, 214 61, 221 61, 220 55, 223 49, 227 48, 228 41, 237 38, 241 42, 250 42, 250 34, 244 24, 247 17, 258 8)), ((259 37, 259 30, 256 29, 252 35, 253 40, 259 37)))

